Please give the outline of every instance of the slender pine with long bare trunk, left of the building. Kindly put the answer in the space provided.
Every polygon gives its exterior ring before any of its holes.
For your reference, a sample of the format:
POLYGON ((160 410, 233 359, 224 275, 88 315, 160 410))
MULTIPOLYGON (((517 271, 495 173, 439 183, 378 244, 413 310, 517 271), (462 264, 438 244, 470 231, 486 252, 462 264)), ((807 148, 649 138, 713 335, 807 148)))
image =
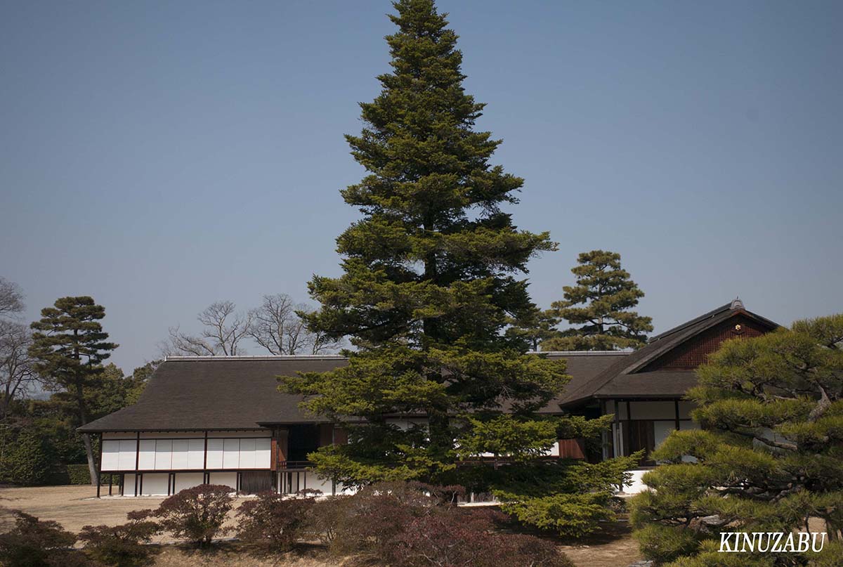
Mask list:
MULTIPOLYGON (((103 360, 117 348, 109 343, 108 333, 99 320, 105 308, 87 296, 62 297, 53 307, 41 310, 40 321, 32 323, 35 332, 30 354, 37 359, 35 369, 51 387, 67 392, 76 407, 79 423, 88 423, 86 391, 99 383, 105 370, 103 360)), ((91 482, 99 482, 94 451, 88 434, 83 435, 91 482)))

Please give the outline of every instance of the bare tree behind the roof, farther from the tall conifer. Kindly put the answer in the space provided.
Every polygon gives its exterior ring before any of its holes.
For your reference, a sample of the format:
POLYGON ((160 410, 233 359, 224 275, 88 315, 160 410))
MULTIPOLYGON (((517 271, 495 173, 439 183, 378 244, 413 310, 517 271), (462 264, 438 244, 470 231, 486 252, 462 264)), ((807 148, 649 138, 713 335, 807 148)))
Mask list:
POLYGON ((159 347, 161 353, 196 356, 245 354, 240 342, 249 335, 250 313, 238 313, 232 301, 215 301, 196 319, 202 324, 199 335, 189 335, 181 332, 179 327, 170 327, 169 341, 159 347))

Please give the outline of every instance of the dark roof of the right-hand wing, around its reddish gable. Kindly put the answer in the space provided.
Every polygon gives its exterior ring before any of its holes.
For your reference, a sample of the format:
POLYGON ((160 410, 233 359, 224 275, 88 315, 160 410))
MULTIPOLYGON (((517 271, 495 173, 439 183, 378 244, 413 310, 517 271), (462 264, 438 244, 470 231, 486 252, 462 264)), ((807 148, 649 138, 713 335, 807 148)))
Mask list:
POLYGON ((693 370, 648 372, 645 371, 647 365, 690 338, 700 335, 733 316, 749 317, 769 330, 778 327, 775 322, 747 311, 741 300, 733 300, 651 338, 646 346, 629 353, 623 359, 618 359, 615 364, 595 375, 593 379, 578 388, 569 388, 560 405, 571 406, 594 397, 679 397, 684 395, 696 384, 693 370))

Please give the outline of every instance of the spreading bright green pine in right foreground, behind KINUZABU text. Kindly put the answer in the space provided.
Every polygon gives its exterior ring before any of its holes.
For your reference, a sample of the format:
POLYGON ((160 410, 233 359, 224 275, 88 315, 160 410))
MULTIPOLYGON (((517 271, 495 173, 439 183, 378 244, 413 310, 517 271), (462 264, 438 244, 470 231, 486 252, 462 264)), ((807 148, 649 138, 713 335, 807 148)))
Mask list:
MULTIPOLYGON (((703 429, 674 432, 658 447, 653 458, 665 464, 644 476, 653 490, 633 503, 648 557, 675 567, 840 564, 841 342, 843 315, 797 321, 723 343, 699 368, 689 397, 703 429), (832 543, 822 554, 774 554, 764 542, 766 553, 757 546, 754 553, 718 552, 721 532, 784 532, 786 544, 792 531, 827 532, 832 543)), ((745 548, 743 536, 737 548, 745 548)))

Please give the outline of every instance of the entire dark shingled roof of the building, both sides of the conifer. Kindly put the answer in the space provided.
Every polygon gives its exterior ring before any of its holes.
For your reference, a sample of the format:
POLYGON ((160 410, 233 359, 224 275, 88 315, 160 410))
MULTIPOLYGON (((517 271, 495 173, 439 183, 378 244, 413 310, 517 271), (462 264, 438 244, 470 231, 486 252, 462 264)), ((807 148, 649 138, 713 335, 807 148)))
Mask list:
MULTIPOLYGON (((689 338, 743 314, 765 327, 776 323, 749 313, 739 301, 674 327, 636 351, 550 352, 567 360, 572 380, 543 413, 558 413, 593 398, 680 397, 695 385, 690 370, 647 370, 647 365, 689 338)), ((346 365, 337 355, 170 357, 158 366, 138 402, 97 419, 80 431, 259 429, 262 424, 323 421, 298 408, 302 397, 277 391, 278 375, 325 372, 346 365)))

